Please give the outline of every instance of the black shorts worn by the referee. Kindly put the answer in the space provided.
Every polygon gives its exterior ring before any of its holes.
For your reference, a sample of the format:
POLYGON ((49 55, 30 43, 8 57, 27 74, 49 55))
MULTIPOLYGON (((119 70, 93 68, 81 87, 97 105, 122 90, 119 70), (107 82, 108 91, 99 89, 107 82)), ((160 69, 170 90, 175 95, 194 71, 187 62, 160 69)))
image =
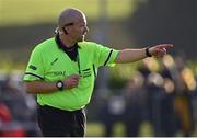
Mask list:
POLYGON ((86 116, 85 111, 73 112, 51 106, 37 107, 38 126, 46 137, 84 137, 86 116))

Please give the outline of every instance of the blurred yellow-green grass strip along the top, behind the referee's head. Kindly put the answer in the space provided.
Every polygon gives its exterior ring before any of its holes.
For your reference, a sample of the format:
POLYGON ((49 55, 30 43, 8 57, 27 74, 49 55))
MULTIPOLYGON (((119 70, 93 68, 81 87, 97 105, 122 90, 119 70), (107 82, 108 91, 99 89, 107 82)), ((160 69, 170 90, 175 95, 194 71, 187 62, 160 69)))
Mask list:
POLYGON ((56 22, 59 12, 69 7, 84 11, 88 20, 97 20, 104 7, 109 19, 121 19, 135 10, 135 3, 136 0, 0 0, 0 26, 56 22))

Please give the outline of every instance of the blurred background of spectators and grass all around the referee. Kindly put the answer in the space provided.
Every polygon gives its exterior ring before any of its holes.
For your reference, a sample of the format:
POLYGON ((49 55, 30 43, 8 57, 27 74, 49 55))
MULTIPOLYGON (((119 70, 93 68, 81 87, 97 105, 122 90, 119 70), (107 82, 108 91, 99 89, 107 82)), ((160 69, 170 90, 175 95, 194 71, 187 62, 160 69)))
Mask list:
POLYGON ((0 0, 0 136, 40 136, 22 78, 65 8, 86 14, 88 41, 115 49, 173 43, 162 59, 101 68, 86 136, 197 136, 196 0, 0 0))

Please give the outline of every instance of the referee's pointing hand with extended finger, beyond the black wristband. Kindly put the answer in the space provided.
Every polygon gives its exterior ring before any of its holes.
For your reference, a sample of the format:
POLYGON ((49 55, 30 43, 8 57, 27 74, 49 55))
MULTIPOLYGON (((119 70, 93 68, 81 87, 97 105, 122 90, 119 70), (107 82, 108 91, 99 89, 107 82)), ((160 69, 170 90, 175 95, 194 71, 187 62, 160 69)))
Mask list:
POLYGON ((172 48, 173 44, 160 44, 149 48, 149 53, 154 57, 163 57, 166 54, 166 48, 172 48))

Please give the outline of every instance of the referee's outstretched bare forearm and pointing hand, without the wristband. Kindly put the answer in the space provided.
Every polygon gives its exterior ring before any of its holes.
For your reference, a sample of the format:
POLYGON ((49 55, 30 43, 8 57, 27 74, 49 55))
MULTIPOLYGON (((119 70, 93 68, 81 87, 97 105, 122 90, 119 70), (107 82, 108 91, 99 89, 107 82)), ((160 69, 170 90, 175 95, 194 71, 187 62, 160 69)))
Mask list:
MULTIPOLYGON (((148 53, 154 57, 163 57, 166 54, 166 48, 173 47, 172 44, 160 44, 148 48, 148 53)), ((141 49, 123 49, 115 59, 116 64, 126 64, 141 60, 148 57, 146 48, 141 49)))

